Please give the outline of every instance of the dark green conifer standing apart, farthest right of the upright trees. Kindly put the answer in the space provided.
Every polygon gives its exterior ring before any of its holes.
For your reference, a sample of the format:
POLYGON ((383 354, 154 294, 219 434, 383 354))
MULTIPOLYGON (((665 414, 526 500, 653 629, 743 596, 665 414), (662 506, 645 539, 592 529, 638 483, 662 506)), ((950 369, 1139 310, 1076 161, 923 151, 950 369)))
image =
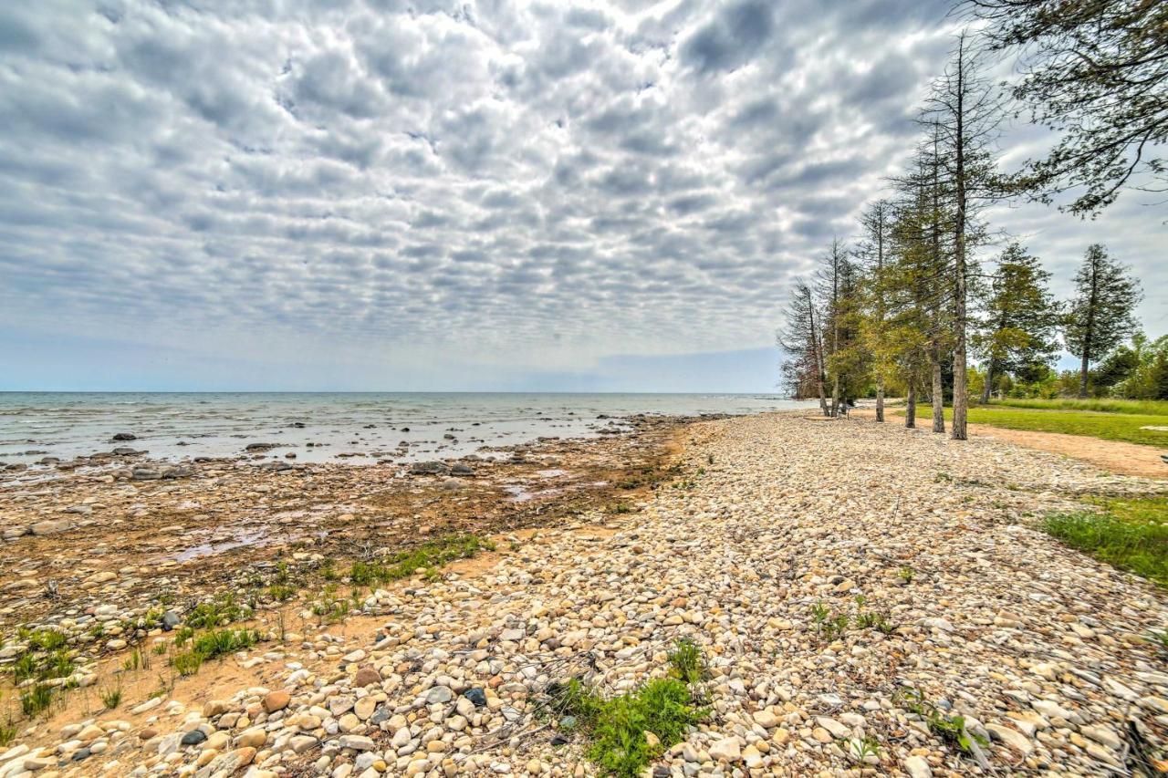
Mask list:
POLYGON ((1133 311, 1143 296, 1131 271, 1113 262, 1099 243, 1087 248, 1075 276, 1075 290, 1063 339, 1066 350, 1079 357, 1079 397, 1086 397, 1091 361, 1119 346, 1135 329, 1133 311))

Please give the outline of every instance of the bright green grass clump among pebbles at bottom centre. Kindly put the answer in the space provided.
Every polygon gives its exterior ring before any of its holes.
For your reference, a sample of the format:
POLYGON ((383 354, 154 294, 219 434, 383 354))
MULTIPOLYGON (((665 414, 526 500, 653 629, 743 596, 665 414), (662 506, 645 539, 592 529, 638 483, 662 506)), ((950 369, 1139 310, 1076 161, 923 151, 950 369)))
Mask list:
POLYGON ((709 711, 698 707, 695 685, 708 676, 705 659, 691 640, 669 653, 669 676, 635 692, 604 699, 579 679, 552 685, 550 707, 591 741, 585 749, 600 774, 637 778, 653 759, 686 737, 709 711))

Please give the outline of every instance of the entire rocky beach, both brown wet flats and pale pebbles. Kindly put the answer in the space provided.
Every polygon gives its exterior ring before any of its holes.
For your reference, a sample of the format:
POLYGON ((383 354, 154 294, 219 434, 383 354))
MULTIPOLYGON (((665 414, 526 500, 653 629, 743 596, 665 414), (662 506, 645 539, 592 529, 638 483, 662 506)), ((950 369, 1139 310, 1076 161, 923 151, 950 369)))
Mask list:
POLYGON ((6 475, 0 662, 69 673, 6 682, 0 778, 591 776, 564 685, 632 693, 679 645, 702 710, 676 742, 646 732, 652 774, 1126 774, 1162 753, 1168 598, 1036 522, 1163 480, 799 412, 135 475, 157 467, 6 475), (354 564, 452 536, 475 546, 371 582, 354 564), (248 638, 175 673, 208 603, 248 638), (25 717, 37 686, 60 690, 25 717))

